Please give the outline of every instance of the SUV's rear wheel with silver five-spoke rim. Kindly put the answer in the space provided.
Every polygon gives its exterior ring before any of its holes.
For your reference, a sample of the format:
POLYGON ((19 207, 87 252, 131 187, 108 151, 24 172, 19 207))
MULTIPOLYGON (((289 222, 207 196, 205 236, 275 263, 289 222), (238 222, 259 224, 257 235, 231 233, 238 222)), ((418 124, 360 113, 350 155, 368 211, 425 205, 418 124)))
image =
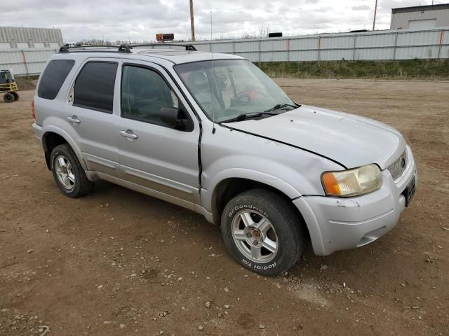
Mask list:
POLYGON ((88 180, 69 144, 53 148, 50 163, 53 178, 64 195, 82 197, 91 192, 93 182, 88 180))

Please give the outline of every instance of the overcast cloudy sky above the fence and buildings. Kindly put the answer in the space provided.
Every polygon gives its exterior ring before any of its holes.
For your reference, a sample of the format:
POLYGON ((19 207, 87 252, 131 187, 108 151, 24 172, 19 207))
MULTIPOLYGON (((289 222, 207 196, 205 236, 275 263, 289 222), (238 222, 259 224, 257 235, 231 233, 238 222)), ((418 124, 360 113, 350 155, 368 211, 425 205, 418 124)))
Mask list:
MULTIPOLYGON (((0 25, 55 27, 65 42, 83 38, 154 40, 156 33, 190 38, 189 0, 14 0, 1 6, 0 25)), ((444 2, 444 1, 439 1, 444 2)), ((389 29, 391 8, 431 0, 379 0, 376 29, 389 29)), ((241 37, 260 31, 284 35, 371 29, 375 0, 194 0, 197 39, 241 37)))

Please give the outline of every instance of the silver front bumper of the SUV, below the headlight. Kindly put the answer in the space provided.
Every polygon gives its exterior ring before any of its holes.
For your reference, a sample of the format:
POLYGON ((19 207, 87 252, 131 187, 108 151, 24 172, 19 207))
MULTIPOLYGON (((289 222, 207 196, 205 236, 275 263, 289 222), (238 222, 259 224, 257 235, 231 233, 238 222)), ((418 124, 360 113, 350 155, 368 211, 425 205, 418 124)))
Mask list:
POLYGON ((398 223, 406 207, 403 195, 417 170, 407 147, 408 167, 401 179, 393 181, 387 169, 382 171, 382 186, 358 197, 303 196, 293 201, 306 222, 316 255, 363 246, 385 235, 398 223))

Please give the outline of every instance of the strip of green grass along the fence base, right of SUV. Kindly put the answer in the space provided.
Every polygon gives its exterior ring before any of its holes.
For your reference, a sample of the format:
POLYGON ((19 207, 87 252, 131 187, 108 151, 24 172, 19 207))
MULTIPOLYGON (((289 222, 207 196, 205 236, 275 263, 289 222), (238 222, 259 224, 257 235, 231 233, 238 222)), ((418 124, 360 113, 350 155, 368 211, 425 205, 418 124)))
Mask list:
POLYGON ((255 63, 272 78, 449 79, 449 59, 255 63))

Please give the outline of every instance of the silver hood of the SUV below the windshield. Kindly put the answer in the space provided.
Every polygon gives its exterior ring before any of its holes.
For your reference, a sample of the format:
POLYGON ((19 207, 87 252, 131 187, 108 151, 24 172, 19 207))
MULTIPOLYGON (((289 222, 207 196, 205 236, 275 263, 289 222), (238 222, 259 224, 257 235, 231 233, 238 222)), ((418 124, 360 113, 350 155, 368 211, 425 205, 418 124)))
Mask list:
POLYGON ((347 168, 376 163, 385 169, 406 148, 401 133, 393 127, 314 106, 302 105, 278 116, 226 125, 304 148, 347 168))

